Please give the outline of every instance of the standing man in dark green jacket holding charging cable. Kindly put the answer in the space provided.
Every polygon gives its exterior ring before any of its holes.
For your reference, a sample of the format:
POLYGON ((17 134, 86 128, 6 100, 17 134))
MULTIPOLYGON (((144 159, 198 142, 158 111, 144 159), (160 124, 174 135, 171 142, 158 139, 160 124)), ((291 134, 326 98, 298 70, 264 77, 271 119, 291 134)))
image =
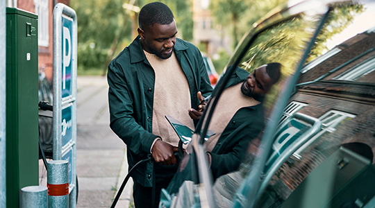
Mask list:
POLYGON ((176 172, 178 137, 165 114, 190 128, 186 109, 197 92, 212 92, 201 53, 176 38, 172 11, 153 2, 140 10, 138 37, 108 66, 110 128, 127 146, 129 168, 150 158, 132 177, 135 207, 158 207, 160 189, 176 172))

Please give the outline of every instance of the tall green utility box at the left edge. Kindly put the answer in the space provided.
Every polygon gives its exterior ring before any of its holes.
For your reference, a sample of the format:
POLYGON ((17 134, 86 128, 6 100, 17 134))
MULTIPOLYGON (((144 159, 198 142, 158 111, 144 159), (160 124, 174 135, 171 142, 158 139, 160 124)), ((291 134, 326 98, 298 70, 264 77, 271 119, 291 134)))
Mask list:
POLYGON ((6 8, 6 205, 38 185, 38 15, 6 8))

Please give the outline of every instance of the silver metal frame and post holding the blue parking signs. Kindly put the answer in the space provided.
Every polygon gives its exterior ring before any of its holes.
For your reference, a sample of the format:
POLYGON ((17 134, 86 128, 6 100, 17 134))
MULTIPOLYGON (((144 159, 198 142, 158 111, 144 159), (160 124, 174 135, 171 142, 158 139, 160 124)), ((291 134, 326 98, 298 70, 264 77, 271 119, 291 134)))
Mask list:
MULTIPOLYGON (((76 207, 76 70, 77 70, 77 16, 76 12, 63 3, 57 3, 53 9, 53 159, 67 159, 69 150, 72 151, 72 164, 70 175, 72 182, 69 185, 70 207, 76 207), (69 17, 73 21, 72 26, 72 94, 63 98, 63 40, 62 20, 69 17), (67 144, 62 143, 62 111, 72 105, 72 138, 67 144)), ((65 41, 65 40, 64 40, 65 41)))

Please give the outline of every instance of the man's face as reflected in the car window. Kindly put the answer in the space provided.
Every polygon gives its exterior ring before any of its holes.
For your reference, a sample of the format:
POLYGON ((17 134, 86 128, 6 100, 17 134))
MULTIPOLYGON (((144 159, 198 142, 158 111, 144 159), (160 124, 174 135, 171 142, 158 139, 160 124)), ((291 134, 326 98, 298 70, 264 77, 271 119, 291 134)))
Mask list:
POLYGON ((258 67, 247 76, 241 86, 241 92, 245 96, 253 97, 260 101, 272 87, 272 79, 269 77, 266 66, 258 67))

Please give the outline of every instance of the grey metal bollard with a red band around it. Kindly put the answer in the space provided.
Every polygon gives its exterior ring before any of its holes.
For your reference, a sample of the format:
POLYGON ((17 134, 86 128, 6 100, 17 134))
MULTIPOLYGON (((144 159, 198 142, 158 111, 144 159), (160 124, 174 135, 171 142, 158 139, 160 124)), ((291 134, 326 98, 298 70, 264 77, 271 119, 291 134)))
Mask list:
POLYGON ((66 160, 51 160, 47 163, 47 187, 49 207, 68 207, 69 175, 66 160))

